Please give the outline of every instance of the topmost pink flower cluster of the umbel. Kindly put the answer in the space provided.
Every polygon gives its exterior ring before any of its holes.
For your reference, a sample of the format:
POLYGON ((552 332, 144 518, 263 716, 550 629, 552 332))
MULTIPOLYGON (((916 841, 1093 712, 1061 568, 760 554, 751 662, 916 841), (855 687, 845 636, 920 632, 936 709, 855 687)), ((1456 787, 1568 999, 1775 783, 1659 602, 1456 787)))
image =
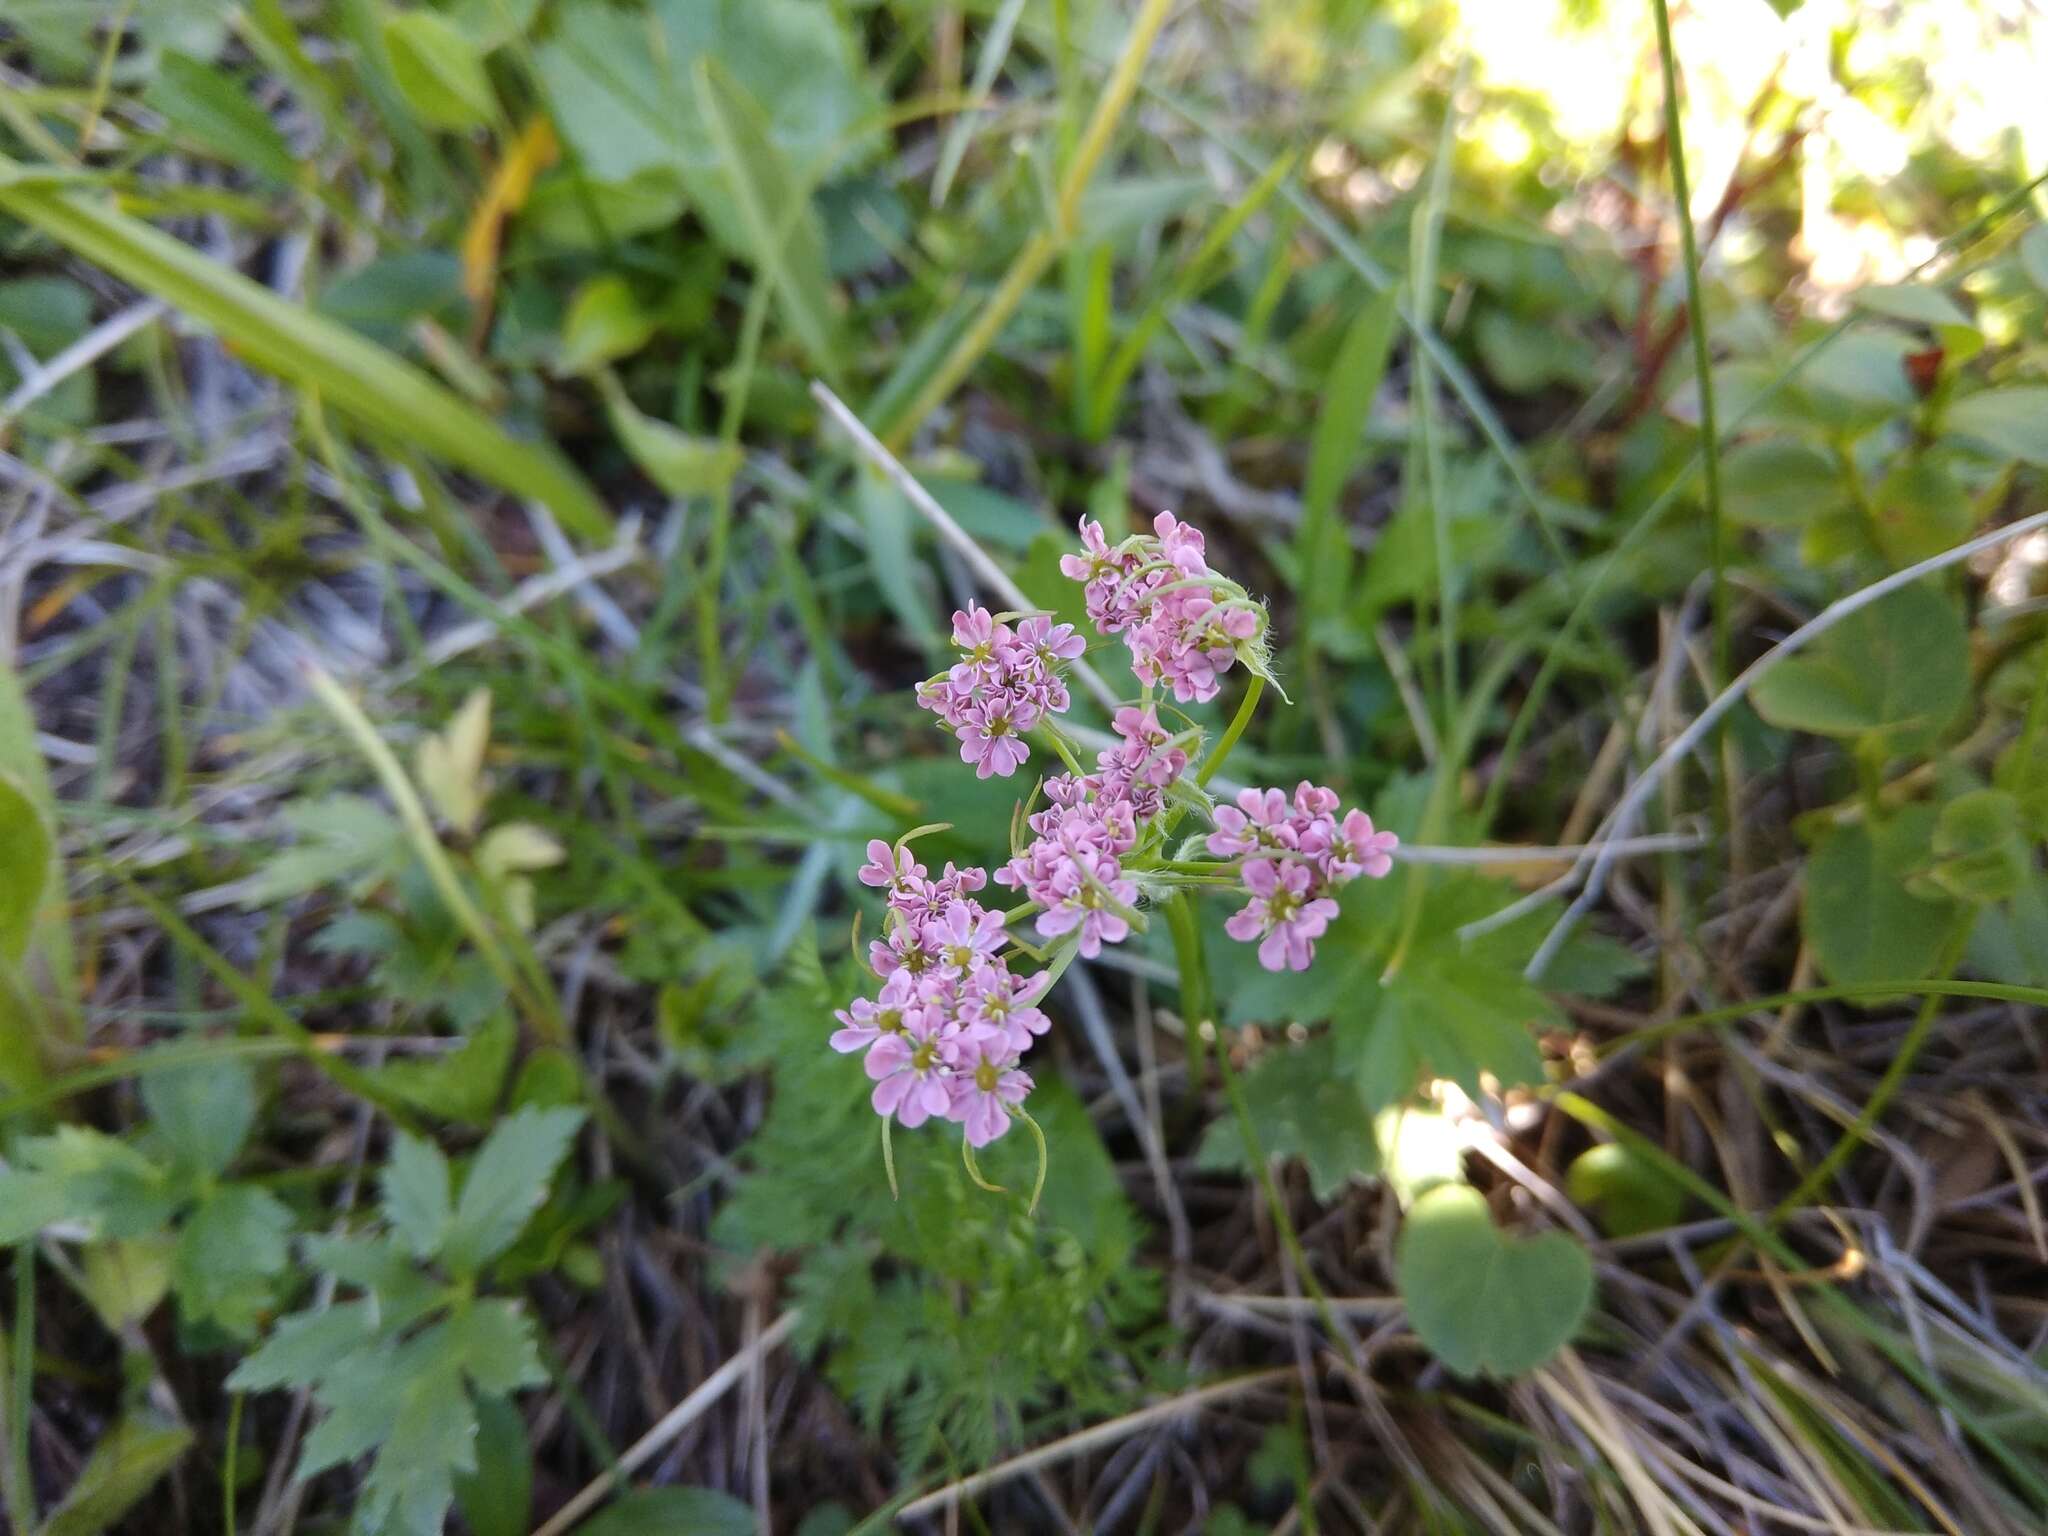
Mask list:
POLYGON ((1184 705, 1214 698, 1239 647, 1266 627, 1266 610, 1208 569, 1202 530, 1171 512, 1114 547, 1081 518, 1081 553, 1059 569, 1083 584, 1096 629, 1124 637, 1139 682, 1165 684, 1184 705))

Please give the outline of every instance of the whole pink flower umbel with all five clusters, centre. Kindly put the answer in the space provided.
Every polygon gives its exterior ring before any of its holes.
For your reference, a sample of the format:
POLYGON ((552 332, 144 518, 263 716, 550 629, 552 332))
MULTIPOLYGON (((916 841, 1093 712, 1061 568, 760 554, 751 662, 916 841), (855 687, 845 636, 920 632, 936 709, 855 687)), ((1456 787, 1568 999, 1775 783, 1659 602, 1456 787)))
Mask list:
POLYGON ((969 604, 952 616, 961 659, 918 684, 918 702, 979 778, 1022 768, 1028 735, 1067 772, 1042 780, 1044 807, 1022 823, 1030 842, 995 870, 997 885, 1024 897, 1008 911, 975 899, 989 879, 979 868, 946 864, 932 877, 907 840, 868 844, 860 879, 883 889, 889 907, 883 936, 868 944, 881 987, 838 1010, 831 1036, 836 1051, 866 1053, 877 1114, 905 1128, 954 1120, 969 1149, 1006 1135, 1012 1118, 1032 1124, 1022 1057, 1051 1026, 1040 999, 1073 956, 1094 958, 1143 928, 1147 897, 1235 874, 1247 901, 1225 932, 1255 942, 1268 971, 1305 971, 1337 915, 1337 887, 1384 877, 1399 842, 1364 811, 1339 817, 1337 795, 1307 780, 1292 795, 1247 788, 1235 805, 1217 805, 1188 776, 1202 733, 1161 723, 1157 692, 1206 702, 1233 664, 1264 678, 1268 627, 1264 604, 1208 567, 1198 528, 1161 512, 1149 535, 1112 545, 1100 522, 1083 520, 1081 553, 1063 557, 1061 569, 1083 584, 1094 629, 1122 637, 1143 696, 1116 711, 1112 743, 1094 772, 1081 772, 1057 717, 1071 702, 1063 674, 1085 639, 1047 614, 969 604), (1210 831, 1169 850, 1184 813, 1210 831), (1190 860, 1196 852, 1217 862, 1190 860), (1042 944, 1014 932, 1026 918, 1042 944), (1010 969, 1024 956, 1042 963, 1034 975, 1010 969))

